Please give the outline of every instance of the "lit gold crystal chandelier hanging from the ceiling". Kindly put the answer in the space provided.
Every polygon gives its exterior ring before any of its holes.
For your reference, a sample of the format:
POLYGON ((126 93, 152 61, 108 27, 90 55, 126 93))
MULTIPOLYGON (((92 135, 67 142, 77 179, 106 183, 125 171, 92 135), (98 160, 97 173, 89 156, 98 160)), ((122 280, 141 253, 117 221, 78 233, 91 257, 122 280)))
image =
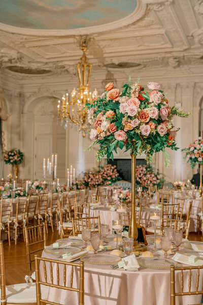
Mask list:
POLYGON ((86 103, 92 104, 96 95, 97 90, 91 92, 89 88, 89 79, 92 70, 92 64, 88 62, 86 57, 87 45, 89 38, 87 36, 80 36, 80 49, 83 52, 80 62, 77 64, 77 74, 79 78, 79 85, 77 90, 74 88, 71 93, 66 93, 62 97, 62 101, 58 101, 58 114, 57 122, 60 123, 65 129, 68 124, 76 125, 78 131, 82 132, 83 137, 90 130, 90 126, 87 120, 87 109, 84 108, 86 103))

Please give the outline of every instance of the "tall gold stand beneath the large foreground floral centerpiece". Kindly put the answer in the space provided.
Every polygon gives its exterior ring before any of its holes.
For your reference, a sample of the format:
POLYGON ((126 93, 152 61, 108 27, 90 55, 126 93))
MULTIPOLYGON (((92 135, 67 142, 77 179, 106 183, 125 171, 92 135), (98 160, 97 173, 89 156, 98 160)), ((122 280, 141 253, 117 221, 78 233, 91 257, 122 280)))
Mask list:
POLYGON ((133 252, 146 251, 145 245, 140 245, 137 241, 138 227, 136 223, 136 154, 131 155, 131 184, 132 184, 132 202, 131 202, 131 215, 128 236, 133 238, 133 252))

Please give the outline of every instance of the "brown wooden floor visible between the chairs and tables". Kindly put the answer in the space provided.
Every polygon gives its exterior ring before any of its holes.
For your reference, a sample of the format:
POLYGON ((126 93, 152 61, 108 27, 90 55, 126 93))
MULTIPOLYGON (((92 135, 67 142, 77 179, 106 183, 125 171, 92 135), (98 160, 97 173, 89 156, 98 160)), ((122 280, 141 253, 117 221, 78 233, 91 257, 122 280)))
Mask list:
MULTIPOLYGON (((50 245, 56 239, 59 238, 58 231, 52 233, 51 228, 49 228, 47 236, 47 245, 50 245)), ((203 241, 202 234, 190 234, 190 240, 203 241)), ((40 255, 40 253, 39 253, 40 255)), ((26 249, 24 245, 23 238, 19 238, 17 245, 15 246, 14 240, 11 241, 11 246, 9 247, 8 241, 4 241, 4 257, 5 257, 5 270, 6 270, 6 284, 18 284, 25 282, 25 275, 27 274, 26 266, 26 249)), ((34 270, 34 266, 33 266, 34 270)))

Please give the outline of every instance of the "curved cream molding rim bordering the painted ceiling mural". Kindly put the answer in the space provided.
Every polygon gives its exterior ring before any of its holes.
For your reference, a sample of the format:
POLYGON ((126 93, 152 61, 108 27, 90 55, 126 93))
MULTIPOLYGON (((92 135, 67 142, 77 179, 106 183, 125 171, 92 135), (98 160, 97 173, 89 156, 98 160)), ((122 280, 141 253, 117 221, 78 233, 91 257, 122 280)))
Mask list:
MULTIPOLYGON (((162 1, 163 2, 163 1, 162 1)), ((115 28, 123 27, 130 23, 133 23, 140 18, 142 18, 146 12, 147 5, 143 3, 143 0, 137 0, 137 7, 133 13, 126 16, 123 19, 110 22, 107 24, 90 26, 84 28, 74 28, 74 29, 31 29, 31 28, 21 28, 16 26, 7 25, 0 22, 0 29, 5 32, 29 35, 29 36, 72 36, 72 35, 89 35, 94 33, 101 33, 106 31, 112 31, 115 28)))

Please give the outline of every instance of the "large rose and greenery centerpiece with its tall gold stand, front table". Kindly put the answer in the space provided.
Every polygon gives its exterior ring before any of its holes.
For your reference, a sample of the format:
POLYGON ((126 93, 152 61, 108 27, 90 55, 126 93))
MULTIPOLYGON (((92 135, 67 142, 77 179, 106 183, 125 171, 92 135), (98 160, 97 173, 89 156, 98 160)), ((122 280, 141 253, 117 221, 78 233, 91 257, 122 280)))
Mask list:
POLYGON ((152 156, 162 150, 165 156, 165 165, 169 155, 166 147, 178 149, 175 143, 176 132, 172 120, 175 115, 187 117, 178 108, 170 107, 166 95, 159 90, 158 83, 149 82, 147 89, 140 84, 140 78, 134 84, 123 85, 120 91, 108 83, 106 91, 97 96, 93 104, 87 103, 88 121, 93 125, 90 139, 93 141, 88 147, 98 144, 97 160, 107 155, 114 159, 113 151, 125 148, 131 155, 132 206, 129 237, 134 239, 134 248, 137 243, 138 229, 136 224, 136 156, 146 154, 146 160, 152 161, 152 156))

